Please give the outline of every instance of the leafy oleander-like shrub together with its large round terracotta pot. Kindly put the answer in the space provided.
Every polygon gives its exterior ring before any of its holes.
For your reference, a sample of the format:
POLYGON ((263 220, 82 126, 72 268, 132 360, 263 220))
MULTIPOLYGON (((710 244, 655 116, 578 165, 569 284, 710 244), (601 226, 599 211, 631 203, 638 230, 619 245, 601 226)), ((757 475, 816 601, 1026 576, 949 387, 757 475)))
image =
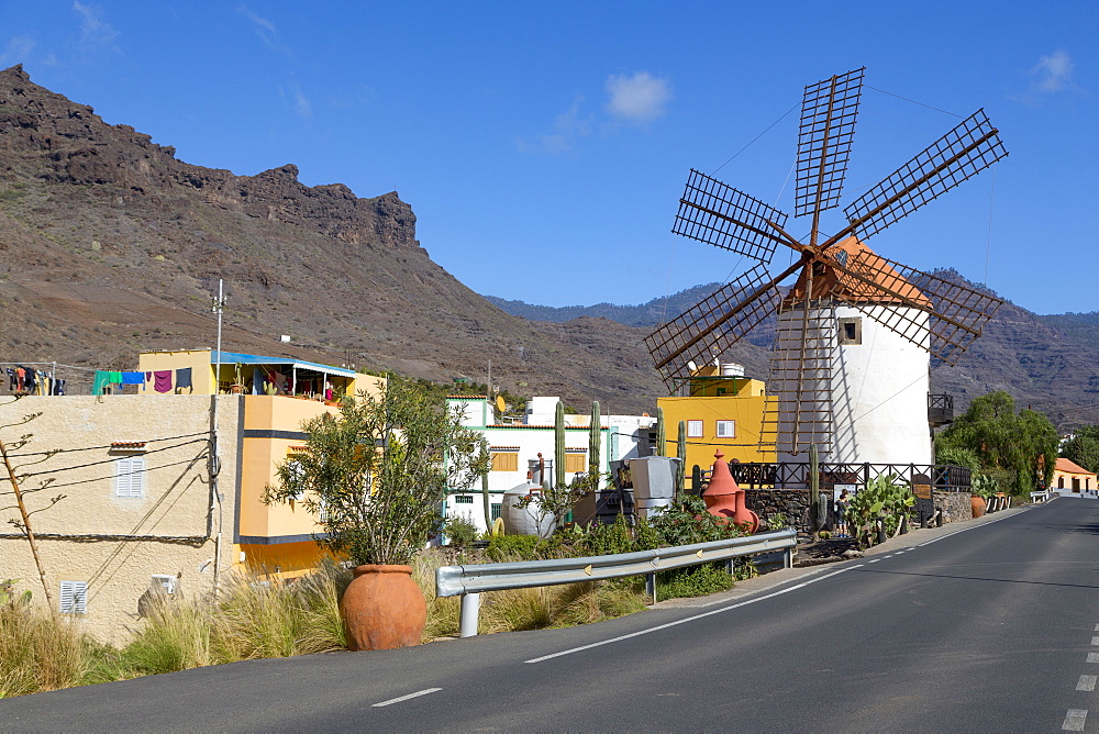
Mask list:
POLYGON ((302 430, 304 449, 278 466, 264 501, 302 497, 323 529, 317 541, 355 565, 340 601, 352 649, 419 644, 428 610, 409 564, 437 531, 448 488, 485 469, 479 434, 404 379, 347 398, 302 430))

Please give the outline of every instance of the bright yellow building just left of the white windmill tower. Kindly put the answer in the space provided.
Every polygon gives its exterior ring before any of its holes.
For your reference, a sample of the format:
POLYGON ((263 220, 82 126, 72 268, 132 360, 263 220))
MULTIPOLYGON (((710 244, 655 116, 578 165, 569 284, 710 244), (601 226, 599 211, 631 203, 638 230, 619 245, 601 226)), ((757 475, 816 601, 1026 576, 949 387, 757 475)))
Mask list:
POLYGON ((774 446, 761 446, 765 383, 731 371, 728 366, 701 367, 691 374, 688 396, 656 401, 664 411, 665 456, 677 455, 679 422, 686 424, 688 477, 695 465, 709 469, 719 448, 726 461, 776 460, 774 446))

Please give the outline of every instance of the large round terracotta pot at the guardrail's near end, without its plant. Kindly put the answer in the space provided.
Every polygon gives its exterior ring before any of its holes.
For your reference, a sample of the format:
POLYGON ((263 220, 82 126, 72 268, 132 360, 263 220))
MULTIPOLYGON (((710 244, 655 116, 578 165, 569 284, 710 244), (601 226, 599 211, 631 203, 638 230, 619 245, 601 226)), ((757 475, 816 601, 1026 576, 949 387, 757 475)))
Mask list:
POLYGON ((420 644, 428 603, 411 566, 371 564, 355 568, 340 615, 351 649, 392 649, 420 644))

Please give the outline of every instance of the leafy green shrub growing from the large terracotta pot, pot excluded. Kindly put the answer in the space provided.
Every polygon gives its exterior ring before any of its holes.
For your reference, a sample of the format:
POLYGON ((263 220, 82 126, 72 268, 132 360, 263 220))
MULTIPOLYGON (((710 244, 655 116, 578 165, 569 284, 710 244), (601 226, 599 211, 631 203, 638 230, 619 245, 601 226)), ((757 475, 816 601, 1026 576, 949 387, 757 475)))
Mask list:
POLYGON ((449 488, 487 470, 480 435, 413 382, 345 398, 338 415, 302 423, 304 451, 278 466, 267 503, 300 501, 318 516, 318 542, 363 564, 408 564, 440 527, 449 488))

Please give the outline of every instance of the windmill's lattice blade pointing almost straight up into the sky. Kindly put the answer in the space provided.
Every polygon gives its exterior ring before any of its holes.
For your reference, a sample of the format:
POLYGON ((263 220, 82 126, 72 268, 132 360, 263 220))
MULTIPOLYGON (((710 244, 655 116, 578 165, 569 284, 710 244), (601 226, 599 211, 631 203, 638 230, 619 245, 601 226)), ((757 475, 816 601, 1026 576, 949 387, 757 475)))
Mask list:
POLYGON ((798 130, 795 216, 818 215, 840 203, 864 70, 855 69, 806 87, 798 130))

